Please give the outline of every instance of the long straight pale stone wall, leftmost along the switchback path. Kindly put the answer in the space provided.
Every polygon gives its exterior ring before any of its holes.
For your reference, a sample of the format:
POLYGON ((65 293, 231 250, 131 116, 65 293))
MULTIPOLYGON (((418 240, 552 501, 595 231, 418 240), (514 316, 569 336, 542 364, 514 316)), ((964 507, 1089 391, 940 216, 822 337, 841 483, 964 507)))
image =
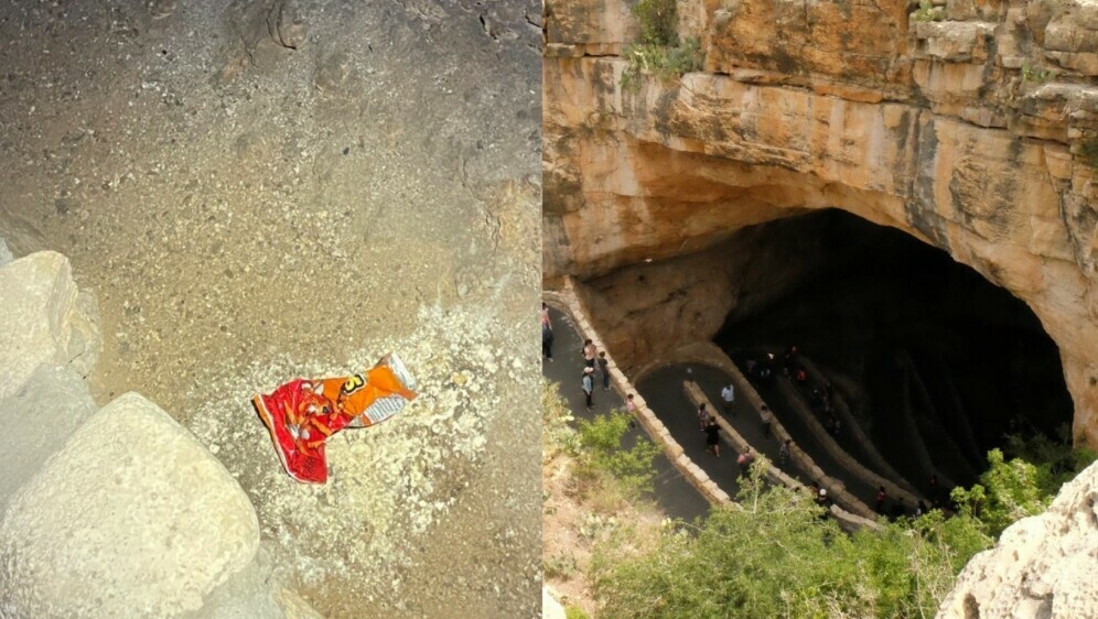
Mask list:
POLYGON ((582 303, 580 303, 575 291, 574 284, 571 278, 564 279, 564 286, 562 291, 559 292, 543 292, 542 300, 564 312, 572 323, 575 325, 577 330, 580 332, 580 336, 583 338, 591 339, 594 345, 600 350, 606 351, 606 360, 609 361, 607 369, 610 370, 610 378, 614 384, 614 389, 618 393, 626 394, 633 393, 633 403, 636 404, 636 420, 644 427, 645 432, 652 439, 659 445, 667 456, 667 459, 671 461, 679 473, 690 482, 706 500, 713 504, 724 504, 732 500, 728 492, 721 490, 717 484, 709 478, 709 475, 701 469, 698 465, 693 464, 693 460, 689 458, 683 453, 682 446, 678 444, 677 441, 668 432, 664 423, 659 421, 656 414, 648 408, 644 398, 637 393, 637 390, 633 387, 629 379, 618 369, 617 363, 614 362, 613 355, 606 349, 603 344, 602 337, 595 332, 594 327, 591 326, 591 322, 586 317, 586 312, 582 303))

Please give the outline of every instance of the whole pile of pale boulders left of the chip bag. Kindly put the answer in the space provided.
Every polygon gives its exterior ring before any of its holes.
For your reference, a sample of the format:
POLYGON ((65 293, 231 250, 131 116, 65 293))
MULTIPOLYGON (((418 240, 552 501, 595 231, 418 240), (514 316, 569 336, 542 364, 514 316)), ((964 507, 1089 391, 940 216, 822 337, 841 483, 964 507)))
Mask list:
POLYGON ((0 376, 36 363, 0 397, 0 617, 319 617, 273 577, 248 496, 194 435, 138 393, 96 410, 77 370, 98 316, 73 307, 65 257, 0 267, 0 376))

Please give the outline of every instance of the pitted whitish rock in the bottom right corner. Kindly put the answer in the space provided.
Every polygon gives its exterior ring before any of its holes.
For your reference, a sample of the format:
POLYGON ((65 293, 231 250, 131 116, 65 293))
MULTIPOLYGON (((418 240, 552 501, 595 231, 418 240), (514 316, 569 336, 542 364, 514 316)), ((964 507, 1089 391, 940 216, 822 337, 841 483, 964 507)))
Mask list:
POLYGON ((976 555, 939 618, 1098 615, 1098 465, 1064 485, 1048 511, 1022 519, 976 555))

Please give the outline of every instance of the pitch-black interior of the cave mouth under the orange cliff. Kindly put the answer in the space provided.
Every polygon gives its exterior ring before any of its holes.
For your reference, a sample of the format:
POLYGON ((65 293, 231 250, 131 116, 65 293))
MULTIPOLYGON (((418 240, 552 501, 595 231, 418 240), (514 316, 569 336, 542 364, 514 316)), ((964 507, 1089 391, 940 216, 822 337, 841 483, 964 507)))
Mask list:
POLYGON ((796 346, 916 486, 927 458, 970 485, 1005 435, 1069 426, 1059 354, 1037 317, 946 252, 838 209, 742 234, 762 253, 740 269, 714 343, 741 363, 775 352, 777 371, 796 346))

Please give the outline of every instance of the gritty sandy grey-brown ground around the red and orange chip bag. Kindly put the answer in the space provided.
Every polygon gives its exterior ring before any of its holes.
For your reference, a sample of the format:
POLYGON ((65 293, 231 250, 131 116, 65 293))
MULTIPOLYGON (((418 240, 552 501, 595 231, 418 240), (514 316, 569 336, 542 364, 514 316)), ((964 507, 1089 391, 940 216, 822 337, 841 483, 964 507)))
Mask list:
POLYGON ((332 617, 539 612, 540 6, 9 2, 0 237, 98 300, 332 617), (399 351, 422 398, 282 474, 248 405, 399 351))

